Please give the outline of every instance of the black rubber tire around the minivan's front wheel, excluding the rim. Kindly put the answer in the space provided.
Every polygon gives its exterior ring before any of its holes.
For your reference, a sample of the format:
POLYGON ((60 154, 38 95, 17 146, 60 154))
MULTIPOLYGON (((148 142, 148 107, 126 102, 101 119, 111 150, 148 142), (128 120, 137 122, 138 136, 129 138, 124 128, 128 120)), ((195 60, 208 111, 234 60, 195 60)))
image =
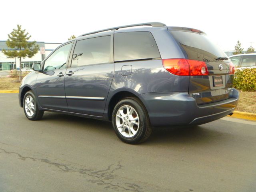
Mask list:
POLYGON ((36 97, 34 96, 34 93, 32 91, 28 91, 26 92, 26 94, 24 95, 24 99, 23 99, 23 109, 24 109, 24 113, 26 115, 26 117, 29 120, 32 121, 36 121, 36 120, 40 120, 42 118, 42 116, 44 115, 44 111, 39 110, 38 108, 38 101, 36 100, 36 97), (32 97, 33 99, 33 103, 34 103, 34 114, 32 116, 28 115, 26 112, 26 108, 25 108, 25 102, 26 102, 26 98, 32 97))

